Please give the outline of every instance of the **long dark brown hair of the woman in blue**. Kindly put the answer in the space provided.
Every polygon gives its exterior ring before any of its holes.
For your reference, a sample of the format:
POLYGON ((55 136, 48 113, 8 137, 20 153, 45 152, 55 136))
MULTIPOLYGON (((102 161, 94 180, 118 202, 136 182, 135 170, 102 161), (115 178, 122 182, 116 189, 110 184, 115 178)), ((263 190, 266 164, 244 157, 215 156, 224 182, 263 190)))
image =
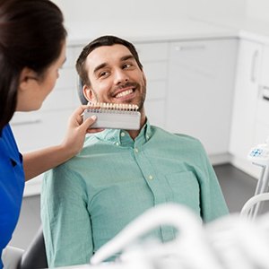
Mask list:
POLYGON ((0 132, 13 117, 22 69, 41 76, 60 56, 63 22, 48 0, 0 0, 0 132))

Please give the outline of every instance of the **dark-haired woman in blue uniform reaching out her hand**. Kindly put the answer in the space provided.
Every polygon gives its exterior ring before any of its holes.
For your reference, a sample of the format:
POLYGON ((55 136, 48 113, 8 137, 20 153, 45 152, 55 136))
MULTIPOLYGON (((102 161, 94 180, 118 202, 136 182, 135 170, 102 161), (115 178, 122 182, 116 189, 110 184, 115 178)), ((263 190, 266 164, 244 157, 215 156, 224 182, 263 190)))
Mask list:
POLYGON ((82 123, 85 107, 78 108, 63 143, 23 156, 18 152, 9 122, 14 111, 39 109, 52 91, 65 62, 65 38, 55 4, 0 0, 0 256, 18 221, 25 180, 72 158, 95 120, 82 123))

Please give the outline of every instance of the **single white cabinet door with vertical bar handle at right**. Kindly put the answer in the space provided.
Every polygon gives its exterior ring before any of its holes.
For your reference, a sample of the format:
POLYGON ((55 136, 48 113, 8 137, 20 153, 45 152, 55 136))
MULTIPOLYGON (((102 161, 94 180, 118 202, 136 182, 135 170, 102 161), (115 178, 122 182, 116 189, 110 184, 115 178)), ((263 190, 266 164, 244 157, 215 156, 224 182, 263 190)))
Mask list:
MULTIPOLYGON (((256 111, 263 46, 240 39, 235 95, 230 129, 230 153, 233 164, 257 177, 258 170, 247 161, 247 153, 256 145, 256 111)), ((258 143, 262 143, 259 141, 258 143)))

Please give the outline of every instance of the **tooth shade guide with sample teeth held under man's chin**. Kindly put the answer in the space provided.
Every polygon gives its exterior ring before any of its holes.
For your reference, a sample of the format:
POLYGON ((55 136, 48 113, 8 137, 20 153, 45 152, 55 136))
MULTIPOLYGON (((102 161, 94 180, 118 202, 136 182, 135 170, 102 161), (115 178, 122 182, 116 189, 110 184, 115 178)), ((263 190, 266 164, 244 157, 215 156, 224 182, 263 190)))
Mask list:
POLYGON ((97 102, 88 106, 83 120, 93 115, 97 117, 91 128, 138 130, 140 127, 141 114, 136 105, 97 102))

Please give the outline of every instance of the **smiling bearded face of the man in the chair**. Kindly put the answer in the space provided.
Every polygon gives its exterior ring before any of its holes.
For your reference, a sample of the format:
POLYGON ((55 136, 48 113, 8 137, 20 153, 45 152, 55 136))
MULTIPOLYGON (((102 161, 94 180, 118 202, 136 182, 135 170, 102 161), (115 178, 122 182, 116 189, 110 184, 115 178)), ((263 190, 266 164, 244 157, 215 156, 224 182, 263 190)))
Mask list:
POLYGON ((135 104, 141 110, 146 80, 134 56, 123 45, 103 46, 91 51, 86 59, 91 86, 84 86, 93 102, 135 104))

